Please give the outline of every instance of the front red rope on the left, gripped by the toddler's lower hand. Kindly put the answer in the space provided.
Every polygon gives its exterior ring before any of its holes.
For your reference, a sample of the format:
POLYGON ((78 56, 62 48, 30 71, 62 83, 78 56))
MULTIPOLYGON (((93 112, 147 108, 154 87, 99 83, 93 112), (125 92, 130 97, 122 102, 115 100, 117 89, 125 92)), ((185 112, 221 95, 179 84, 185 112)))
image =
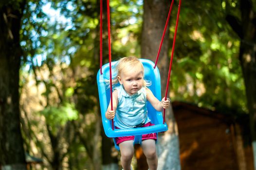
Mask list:
MULTIPOLYGON (((109 36, 109 63, 110 63, 110 104, 111 110, 113 110, 112 99, 112 69, 111 69, 111 38, 110 38, 110 0, 107 0, 107 12, 108 12, 108 36, 109 36)), ((114 130, 114 120, 112 119, 112 130, 114 130)))

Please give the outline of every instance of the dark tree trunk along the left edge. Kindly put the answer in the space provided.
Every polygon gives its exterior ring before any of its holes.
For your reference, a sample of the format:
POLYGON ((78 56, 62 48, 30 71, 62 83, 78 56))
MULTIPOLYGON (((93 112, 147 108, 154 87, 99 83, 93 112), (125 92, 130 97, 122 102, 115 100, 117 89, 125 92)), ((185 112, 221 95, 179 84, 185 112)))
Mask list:
POLYGON ((19 2, 0 3, 0 164, 3 170, 26 170, 18 91, 19 30, 25 0, 19 2))

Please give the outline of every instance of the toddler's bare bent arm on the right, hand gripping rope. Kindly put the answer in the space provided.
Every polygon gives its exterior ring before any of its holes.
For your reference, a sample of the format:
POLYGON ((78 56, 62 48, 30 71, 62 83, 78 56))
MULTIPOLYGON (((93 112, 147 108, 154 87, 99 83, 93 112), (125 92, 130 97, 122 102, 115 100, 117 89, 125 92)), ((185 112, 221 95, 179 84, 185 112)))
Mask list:
POLYGON ((162 111, 170 106, 170 99, 165 101, 165 98, 160 102, 149 88, 146 88, 146 99, 152 104, 157 111, 162 111))

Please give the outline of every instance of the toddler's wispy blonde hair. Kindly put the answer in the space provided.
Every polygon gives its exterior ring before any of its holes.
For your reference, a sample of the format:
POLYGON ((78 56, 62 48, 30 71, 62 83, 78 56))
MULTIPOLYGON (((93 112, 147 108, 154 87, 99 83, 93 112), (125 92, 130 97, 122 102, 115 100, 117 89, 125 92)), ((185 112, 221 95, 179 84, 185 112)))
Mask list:
MULTIPOLYGON (((134 68, 142 68, 143 71, 143 77, 144 77, 144 67, 143 64, 140 62, 140 60, 136 57, 123 57, 118 60, 115 68, 114 68, 114 77, 112 78, 112 85, 116 85, 119 83, 118 76, 120 76, 121 72, 124 69, 134 69, 134 68)), ((150 81, 146 81, 143 79, 143 86, 149 86, 151 85, 150 81)))

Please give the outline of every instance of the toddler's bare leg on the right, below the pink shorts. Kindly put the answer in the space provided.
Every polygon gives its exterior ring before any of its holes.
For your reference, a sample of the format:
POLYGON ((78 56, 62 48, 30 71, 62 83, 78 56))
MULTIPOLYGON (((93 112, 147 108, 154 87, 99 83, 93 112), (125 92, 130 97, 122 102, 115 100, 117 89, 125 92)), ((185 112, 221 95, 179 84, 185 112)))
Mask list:
POLYGON ((154 139, 143 140, 142 149, 146 156, 146 162, 149 170, 156 170, 157 169, 156 141, 154 139))

